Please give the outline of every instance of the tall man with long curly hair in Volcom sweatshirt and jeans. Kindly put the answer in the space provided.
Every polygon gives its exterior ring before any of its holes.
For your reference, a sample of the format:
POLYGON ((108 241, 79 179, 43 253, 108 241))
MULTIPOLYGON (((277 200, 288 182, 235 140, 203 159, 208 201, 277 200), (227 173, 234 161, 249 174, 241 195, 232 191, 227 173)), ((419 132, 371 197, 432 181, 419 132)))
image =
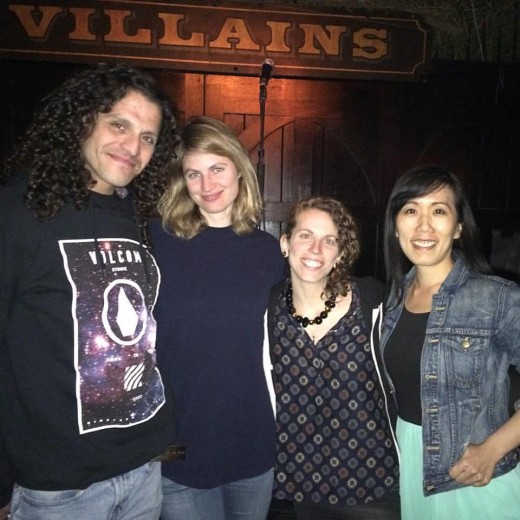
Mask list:
POLYGON ((44 100, 6 162, 0 520, 159 518, 175 425, 145 217, 176 136, 151 76, 101 64, 44 100))

